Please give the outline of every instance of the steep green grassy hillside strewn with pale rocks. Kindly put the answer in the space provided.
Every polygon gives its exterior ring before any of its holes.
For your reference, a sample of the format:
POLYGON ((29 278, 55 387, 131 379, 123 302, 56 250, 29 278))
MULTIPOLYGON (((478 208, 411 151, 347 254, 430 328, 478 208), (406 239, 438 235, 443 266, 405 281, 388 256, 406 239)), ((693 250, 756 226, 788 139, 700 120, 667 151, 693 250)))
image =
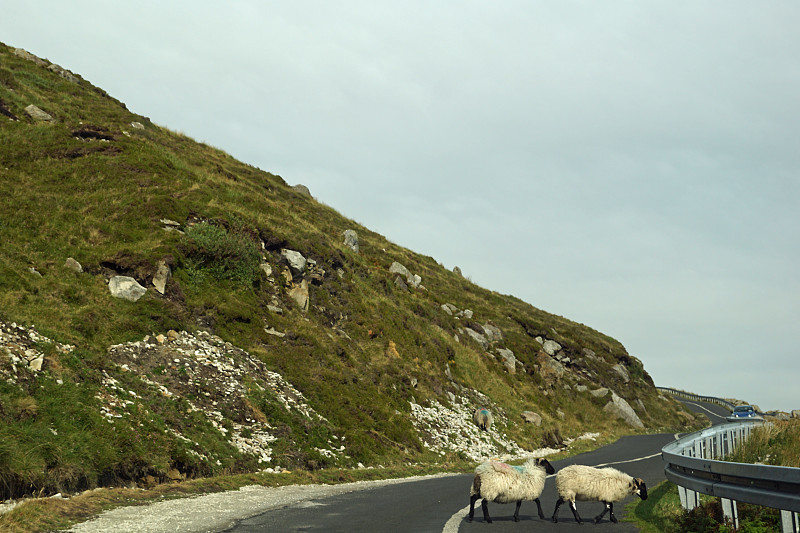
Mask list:
POLYGON ((469 461, 633 431, 601 388, 640 431, 694 423, 617 340, 478 287, 2 44, 0 113, 0 498, 469 461), (293 272, 282 250, 309 266, 293 272), (422 286, 398 283, 394 262, 422 286), (112 297, 118 275, 147 292, 112 297), (459 425, 478 405, 495 413, 488 433, 459 425))

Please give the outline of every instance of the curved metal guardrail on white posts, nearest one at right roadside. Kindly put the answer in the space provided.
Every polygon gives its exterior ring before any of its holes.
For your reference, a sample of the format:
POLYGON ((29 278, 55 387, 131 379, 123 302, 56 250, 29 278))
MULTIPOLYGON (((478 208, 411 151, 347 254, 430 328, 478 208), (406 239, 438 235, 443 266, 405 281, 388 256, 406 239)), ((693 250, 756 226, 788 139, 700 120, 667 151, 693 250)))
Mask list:
POLYGON ((662 448, 664 474, 678 486, 684 509, 699 505, 698 493, 709 494, 721 498, 723 512, 735 528, 739 527, 736 502, 745 502, 780 509, 783 532, 800 532, 800 468, 717 460, 763 424, 747 421, 712 426, 662 448))

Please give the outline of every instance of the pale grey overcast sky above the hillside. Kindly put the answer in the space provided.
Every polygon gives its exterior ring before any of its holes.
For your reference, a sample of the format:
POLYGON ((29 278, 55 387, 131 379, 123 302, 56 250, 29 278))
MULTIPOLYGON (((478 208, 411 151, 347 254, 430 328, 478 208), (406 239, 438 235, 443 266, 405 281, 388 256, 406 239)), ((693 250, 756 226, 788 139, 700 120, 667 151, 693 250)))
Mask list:
POLYGON ((657 385, 800 409, 800 3, 12 4, 5 44, 657 385))

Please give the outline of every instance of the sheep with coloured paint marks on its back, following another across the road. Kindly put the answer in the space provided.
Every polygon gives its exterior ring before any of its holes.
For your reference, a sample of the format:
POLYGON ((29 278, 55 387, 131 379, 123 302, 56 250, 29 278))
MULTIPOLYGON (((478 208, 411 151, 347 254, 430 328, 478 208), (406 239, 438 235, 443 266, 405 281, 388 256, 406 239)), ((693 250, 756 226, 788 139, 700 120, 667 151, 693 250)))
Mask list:
POLYGON ((483 498, 481 509, 483 509, 483 519, 489 524, 488 502, 497 503, 517 502, 514 511, 514 522, 519 522, 519 507, 522 501, 535 501, 539 509, 539 518, 544 519, 542 504, 539 496, 544 489, 544 481, 547 474, 553 474, 555 469, 547 459, 531 458, 522 466, 511 466, 498 461, 488 461, 478 465, 475 469, 475 479, 469 489, 469 517, 468 522, 472 522, 475 515, 475 502, 478 498, 483 498))

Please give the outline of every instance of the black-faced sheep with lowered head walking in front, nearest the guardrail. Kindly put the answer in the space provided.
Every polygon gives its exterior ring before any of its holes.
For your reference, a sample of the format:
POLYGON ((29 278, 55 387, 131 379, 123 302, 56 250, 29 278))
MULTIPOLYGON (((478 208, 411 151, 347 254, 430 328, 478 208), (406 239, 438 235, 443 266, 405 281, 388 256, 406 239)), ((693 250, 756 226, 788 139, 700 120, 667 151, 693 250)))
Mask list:
POLYGON ((553 511, 553 522, 558 522, 558 508, 565 501, 569 502, 569 508, 572 509, 572 514, 579 524, 582 524, 583 520, 578 515, 575 500, 603 502, 606 507, 594 518, 596 524, 607 512, 611 513, 609 517, 611 521, 617 522, 617 517, 614 516, 614 502, 632 494, 638 495, 643 500, 647 499, 647 486, 644 480, 631 477, 615 468, 567 466, 556 474, 556 490, 559 498, 553 511))

